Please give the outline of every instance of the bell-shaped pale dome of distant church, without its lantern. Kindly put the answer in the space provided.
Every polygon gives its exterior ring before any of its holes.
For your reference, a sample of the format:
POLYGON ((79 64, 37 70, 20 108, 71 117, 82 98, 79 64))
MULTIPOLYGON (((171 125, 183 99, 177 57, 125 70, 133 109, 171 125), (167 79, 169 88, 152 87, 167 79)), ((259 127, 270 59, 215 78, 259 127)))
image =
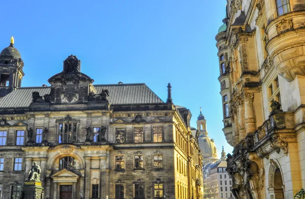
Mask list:
POLYGON ((216 160, 218 159, 217 149, 213 139, 210 139, 205 134, 201 134, 198 138, 198 142, 203 158, 211 158, 211 159, 215 158, 216 160))

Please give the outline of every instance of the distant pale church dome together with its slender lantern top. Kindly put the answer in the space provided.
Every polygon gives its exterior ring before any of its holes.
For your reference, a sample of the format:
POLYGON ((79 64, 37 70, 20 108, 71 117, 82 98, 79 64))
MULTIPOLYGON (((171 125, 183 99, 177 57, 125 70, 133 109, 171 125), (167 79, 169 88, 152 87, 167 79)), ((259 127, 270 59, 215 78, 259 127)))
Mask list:
POLYGON ((203 156, 203 166, 208 163, 214 163, 218 161, 217 148, 215 146, 214 140, 208 137, 208 132, 206 130, 206 120, 201 113, 201 108, 200 114, 197 118, 197 129, 200 133, 198 142, 201 154, 203 156))

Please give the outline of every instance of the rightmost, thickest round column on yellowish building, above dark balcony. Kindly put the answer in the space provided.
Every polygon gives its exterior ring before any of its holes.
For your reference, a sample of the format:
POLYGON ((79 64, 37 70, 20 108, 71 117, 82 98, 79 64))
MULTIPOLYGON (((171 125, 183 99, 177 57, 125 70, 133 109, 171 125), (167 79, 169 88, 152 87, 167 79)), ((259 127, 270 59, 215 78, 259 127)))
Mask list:
POLYGON ((255 116, 253 108, 253 93, 245 93, 245 120, 246 120, 246 133, 247 135, 253 134, 255 132, 255 116))

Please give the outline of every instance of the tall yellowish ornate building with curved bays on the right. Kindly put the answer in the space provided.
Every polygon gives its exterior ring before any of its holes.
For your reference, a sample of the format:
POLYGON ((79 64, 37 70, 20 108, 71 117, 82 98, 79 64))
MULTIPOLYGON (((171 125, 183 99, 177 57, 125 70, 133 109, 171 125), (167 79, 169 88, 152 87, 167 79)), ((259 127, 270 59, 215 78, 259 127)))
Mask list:
POLYGON ((237 198, 288 199, 305 187, 304 21, 304 1, 227 1, 216 40, 237 198))

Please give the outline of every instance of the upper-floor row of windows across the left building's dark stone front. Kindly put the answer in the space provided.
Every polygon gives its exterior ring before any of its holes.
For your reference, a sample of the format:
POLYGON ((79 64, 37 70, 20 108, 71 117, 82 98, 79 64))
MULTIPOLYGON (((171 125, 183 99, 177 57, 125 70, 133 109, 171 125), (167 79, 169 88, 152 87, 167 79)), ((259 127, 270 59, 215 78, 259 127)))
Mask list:
MULTIPOLYGON (((73 143, 77 140, 77 131, 76 131, 76 123, 71 124, 59 124, 59 139, 58 143, 73 143)), ((125 128, 116 128, 115 129, 115 140, 116 143, 124 143, 125 142, 125 128)), ((93 141, 100 141, 100 127, 93 127, 93 141)), ((7 131, 0 131, 0 146, 4 146, 7 144, 7 131)), ((24 145, 25 132, 24 130, 16 130, 16 145, 24 145)), ((135 127, 134 128, 134 142, 142 143, 144 138, 143 127, 135 127)), ((36 143, 42 143, 43 141, 43 128, 36 129, 36 143)), ((162 142, 163 141, 163 131, 162 127, 153 127, 153 141, 154 142, 162 142)))

